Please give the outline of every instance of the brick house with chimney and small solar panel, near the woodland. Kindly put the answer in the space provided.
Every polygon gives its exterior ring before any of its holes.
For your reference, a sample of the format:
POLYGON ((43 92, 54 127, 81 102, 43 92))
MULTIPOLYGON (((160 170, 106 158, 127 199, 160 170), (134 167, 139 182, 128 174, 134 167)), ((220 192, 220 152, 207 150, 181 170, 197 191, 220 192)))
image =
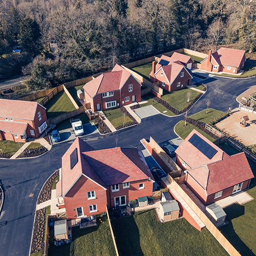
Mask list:
POLYGON ((185 88, 191 84, 193 78, 181 61, 165 55, 161 56, 157 64, 155 61, 152 62, 150 75, 151 82, 159 82, 159 87, 168 92, 185 88))

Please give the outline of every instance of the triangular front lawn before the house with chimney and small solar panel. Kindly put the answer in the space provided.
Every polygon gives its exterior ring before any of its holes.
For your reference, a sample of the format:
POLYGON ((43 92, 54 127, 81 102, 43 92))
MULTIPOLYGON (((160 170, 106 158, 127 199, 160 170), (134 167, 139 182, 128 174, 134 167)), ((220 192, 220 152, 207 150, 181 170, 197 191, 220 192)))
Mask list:
POLYGON ((163 90, 163 96, 161 97, 162 100, 168 102, 173 108, 177 109, 178 111, 182 111, 188 104, 187 102, 187 93, 191 91, 190 101, 192 101, 200 92, 184 88, 182 90, 174 91, 174 92, 167 92, 163 90))

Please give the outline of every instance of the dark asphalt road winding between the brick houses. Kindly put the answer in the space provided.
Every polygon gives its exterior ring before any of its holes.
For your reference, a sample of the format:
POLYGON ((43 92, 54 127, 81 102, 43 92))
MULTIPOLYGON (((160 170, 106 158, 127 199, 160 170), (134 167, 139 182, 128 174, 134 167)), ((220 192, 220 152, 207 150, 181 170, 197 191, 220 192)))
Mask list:
MULTIPOLYGON (((209 78, 204 81, 207 92, 189 111, 195 114, 207 108, 226 111, 229 107, 238 107, 236 98, 242 92, 254 86, 255 78, 228 79, 209 78)), ((82 137, 96 150, 101 148, 138 147, 142 138, 153 137, 158 143, 174 139, 174 126, 183 116, 167 117, 158 114, 142 119, 138 125, 117 131, 114 134, 92 134, 82 137)), ((39 191, 55 169, 61 167, 61 156, 73 141, 55 144, 47 154, 33 159, 0 159, 0 179, 5 188, 5 202, 0 217, 0 256, 27 256, 29 254, 34 221, 34 211, 39 191), (34 194, 29 197, 30 194, 34 194)))

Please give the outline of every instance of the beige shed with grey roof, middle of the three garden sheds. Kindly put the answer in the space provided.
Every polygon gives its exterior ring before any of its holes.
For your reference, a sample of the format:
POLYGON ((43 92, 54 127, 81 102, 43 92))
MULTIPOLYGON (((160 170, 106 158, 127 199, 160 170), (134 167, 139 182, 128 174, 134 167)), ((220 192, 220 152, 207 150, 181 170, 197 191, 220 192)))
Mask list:
POLYGON ((159 215, 162 221, 175 220, 179 218, 180 207, 175 200, 161 202, 159 215))

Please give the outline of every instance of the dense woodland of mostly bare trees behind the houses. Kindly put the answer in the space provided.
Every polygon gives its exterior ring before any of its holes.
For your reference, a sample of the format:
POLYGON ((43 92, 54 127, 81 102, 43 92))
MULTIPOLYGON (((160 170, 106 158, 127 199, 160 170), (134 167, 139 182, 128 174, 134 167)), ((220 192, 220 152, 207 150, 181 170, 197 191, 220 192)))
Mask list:
POLYGON ((28 86, 38 91, 183 47, 207 53, 227 46, 253 57, 255 6, 252 0, 1 0, 0 79, 30 75, 28 86))

